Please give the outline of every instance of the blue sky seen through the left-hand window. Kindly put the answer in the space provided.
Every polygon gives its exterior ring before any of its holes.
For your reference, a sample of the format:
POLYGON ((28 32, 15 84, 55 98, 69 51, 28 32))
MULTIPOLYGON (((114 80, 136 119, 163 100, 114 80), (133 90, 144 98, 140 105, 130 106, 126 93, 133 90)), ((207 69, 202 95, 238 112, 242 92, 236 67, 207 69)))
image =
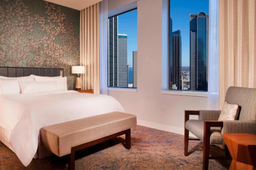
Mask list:
POLYGON ((137 9, 118 15, 118 34, 127 34, 127 64, 133 66, 133 51, 137 51, 137 9))

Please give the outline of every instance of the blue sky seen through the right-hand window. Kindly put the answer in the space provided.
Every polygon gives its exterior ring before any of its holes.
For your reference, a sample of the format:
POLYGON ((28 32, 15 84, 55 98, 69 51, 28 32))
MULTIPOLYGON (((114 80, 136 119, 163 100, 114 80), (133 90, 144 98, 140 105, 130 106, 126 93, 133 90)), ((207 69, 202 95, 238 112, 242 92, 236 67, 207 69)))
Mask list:
POLYGON ((181 31, 182 66, 189 66, 189 14, 198 14, 199 12, 209 14, 208 0, 170 0, 173 32, 181 31))

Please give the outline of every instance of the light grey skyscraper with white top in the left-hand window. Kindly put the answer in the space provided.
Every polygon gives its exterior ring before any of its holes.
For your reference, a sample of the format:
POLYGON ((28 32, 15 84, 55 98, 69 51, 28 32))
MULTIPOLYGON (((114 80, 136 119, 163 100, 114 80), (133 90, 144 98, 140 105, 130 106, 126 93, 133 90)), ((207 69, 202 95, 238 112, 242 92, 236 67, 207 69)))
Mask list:
POLYGON ((118 34, 117 39, 117 87, 128 86, 127 35, 118 34))

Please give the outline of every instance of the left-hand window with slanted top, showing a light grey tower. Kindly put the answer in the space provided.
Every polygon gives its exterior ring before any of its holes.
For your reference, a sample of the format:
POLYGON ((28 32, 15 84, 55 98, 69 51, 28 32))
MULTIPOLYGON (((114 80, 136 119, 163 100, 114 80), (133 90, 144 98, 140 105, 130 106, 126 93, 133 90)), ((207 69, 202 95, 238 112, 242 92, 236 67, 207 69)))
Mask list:
POLYGON ((109 18, 108 87, 137 87, 137 9, 109 18))

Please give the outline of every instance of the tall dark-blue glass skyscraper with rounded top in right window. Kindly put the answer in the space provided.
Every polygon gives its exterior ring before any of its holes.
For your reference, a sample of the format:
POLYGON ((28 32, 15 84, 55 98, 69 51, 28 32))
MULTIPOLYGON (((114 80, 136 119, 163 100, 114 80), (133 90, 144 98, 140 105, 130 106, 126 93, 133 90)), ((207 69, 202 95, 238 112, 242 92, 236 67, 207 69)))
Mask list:
POLYGON ((209 15, 190 14, 190 90, 208 89, 209 15))

